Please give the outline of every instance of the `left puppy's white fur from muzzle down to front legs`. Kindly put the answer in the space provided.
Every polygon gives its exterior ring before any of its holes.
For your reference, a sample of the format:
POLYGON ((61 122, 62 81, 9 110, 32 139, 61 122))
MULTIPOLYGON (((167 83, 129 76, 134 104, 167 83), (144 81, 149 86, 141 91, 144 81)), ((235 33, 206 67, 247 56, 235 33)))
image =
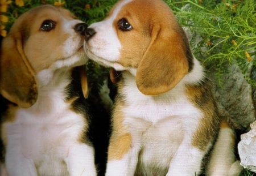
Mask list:
POLYGON ((77 23, 81 21, 65 23, 65 32, 71 36, 63 47, 67 58, 36 74, 38 100, 28 109, 18 109, 14 122, 3 124, 10 176, 96 175, 94 149, 80 141, 88 122, 65 101, 71 68, 88 61, 82 50, 82 37, 73 29, 77 23))

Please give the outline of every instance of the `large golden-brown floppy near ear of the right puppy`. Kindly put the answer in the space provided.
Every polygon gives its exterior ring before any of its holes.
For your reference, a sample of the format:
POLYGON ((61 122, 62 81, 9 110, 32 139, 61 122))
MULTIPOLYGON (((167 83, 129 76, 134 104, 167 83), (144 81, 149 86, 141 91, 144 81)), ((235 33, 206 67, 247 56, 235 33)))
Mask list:
POLYGON ((136 83, 144 95, 174 88, 189 71, 192 54, 181 27, 153 27, 151 43, 137 68, 136 83))

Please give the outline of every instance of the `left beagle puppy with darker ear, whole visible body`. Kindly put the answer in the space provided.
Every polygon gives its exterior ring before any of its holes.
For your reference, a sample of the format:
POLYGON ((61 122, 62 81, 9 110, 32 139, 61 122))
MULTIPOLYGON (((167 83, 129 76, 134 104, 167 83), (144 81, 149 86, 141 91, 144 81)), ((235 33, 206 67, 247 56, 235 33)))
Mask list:
POLYGON ((2 114, 1 174, 96 175, 84 103, 86 27, 45 5, 21 15, 3 38, 0 91, 10 104, 2 114))

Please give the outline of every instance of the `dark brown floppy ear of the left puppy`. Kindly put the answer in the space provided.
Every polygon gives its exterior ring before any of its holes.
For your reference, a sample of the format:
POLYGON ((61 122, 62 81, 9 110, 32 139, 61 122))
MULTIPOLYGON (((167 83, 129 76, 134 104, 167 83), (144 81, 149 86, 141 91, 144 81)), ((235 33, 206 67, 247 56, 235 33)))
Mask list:
POLYGON ((32 106, 38 97, 34 70, 23 53, 19 32, 7 36, 2 42, 0 91, 3 97, 22 108, 32 106))

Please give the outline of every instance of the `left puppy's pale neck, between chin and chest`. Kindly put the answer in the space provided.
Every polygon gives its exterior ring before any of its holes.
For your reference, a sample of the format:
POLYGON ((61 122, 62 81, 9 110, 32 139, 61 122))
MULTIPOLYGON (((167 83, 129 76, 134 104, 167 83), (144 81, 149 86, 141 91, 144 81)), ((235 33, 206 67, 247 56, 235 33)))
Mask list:
POLYGON ((61 113, 68 108, 65 103, 65 88, 71 83, 72 69, 45 69, 36 74, 38 99, 27 110, 31 113, 61 113), (44 108, 42 108, 42 106, 44 108))

